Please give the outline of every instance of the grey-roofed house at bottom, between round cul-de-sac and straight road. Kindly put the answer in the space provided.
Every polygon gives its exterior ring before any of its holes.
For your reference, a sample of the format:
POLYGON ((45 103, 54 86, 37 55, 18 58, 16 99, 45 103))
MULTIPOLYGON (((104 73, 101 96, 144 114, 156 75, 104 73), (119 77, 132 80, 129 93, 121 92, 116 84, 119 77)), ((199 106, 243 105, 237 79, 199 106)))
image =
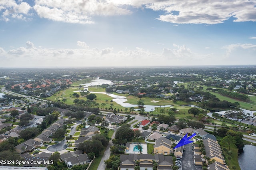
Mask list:
POLYGON ((60 159, 66 163, 68 168, 72 168, 74 165, 83 165, 91 162, 88 155, 83 154, 82 150, 61 154, 60 159))

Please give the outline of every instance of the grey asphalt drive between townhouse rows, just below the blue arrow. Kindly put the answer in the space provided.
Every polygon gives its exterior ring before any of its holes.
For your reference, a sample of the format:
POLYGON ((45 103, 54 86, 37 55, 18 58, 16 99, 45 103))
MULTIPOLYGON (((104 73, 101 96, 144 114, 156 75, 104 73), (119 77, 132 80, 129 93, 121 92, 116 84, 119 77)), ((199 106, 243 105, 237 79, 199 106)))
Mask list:
POLYGON ((196 170, 194 164, 194 152, 192 150, 192 143, 184 145, 184 152, 182 156, 183 170, 196 170))

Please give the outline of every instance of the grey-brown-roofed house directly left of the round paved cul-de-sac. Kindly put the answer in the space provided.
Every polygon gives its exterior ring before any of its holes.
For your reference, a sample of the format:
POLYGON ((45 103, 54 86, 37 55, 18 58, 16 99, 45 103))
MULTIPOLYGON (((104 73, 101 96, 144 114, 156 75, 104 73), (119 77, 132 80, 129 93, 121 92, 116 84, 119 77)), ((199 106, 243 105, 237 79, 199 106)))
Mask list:
POLYGON ((22 142, 21 144, 15 146, 15 150, 18 153, 31 152, 36 147, 41 147, 42 145, 43 145, 43 142, 38 142, 34 139, 29 139, 26 142, 22 142))

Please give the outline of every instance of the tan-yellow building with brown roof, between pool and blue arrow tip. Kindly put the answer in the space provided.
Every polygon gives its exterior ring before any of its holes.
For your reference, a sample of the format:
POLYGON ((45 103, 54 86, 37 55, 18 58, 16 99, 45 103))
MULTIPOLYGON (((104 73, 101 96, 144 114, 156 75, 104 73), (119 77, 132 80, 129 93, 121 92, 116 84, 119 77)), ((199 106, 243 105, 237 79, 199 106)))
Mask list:
POLYGON ((156 140, 156 144, 154 144, 154 154, 164 154, 168 155, 172 153, 172 142, 165 138, 160 137, 156 140))

